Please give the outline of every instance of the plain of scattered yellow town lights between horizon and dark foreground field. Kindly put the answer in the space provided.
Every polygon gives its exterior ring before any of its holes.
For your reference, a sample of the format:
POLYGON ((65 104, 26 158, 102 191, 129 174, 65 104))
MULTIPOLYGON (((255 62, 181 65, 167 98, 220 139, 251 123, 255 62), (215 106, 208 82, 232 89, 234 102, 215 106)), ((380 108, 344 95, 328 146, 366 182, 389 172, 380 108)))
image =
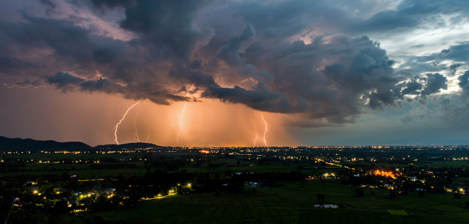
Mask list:
POLYGON ((456 195, 467 194, 469 172, 451 164, 467 163, 467 156, 463 146, 165 147, 4 152, 1 166, 4 187, 13 184, 12 175, 21 185, 13 210, 81 213, 132 208, 175 194, 235 193, 244 185, 268 189, 285 181, 338 181, 354 189, 352 196, 387 189, 391 197, 409 192, 461 197, 456 195), (434 162, 451 167, 428 166, 434 162), (278 171, 256 171, 262 167, 278 171))

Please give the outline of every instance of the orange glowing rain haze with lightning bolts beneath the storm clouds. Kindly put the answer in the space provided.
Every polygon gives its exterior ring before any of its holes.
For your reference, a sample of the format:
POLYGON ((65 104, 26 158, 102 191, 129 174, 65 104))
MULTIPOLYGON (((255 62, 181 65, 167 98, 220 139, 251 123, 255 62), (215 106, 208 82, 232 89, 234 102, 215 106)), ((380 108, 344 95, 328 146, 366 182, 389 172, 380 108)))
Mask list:
POLYGON ((190 112, 185 110, 181 117, 186 102, 172 102, 166 106, 148 100, 131 101, 105 93, 63 94, 52 88, 8 91, 20 93, 25 99, 4 105, 14 109, 4 111, 3 116, 23 117, 5 121, 5 125, 11 126, 8 134, 4 135, 6 137, 24 134, 37 140, 81 141, 95 146, 135 142, 137 130, 140 138, 142 134, 148 135, 145 136, 148 143, 161 146, 177 146, 175 140, 178 134, 180 146, 252 146, 253 136, 260 137, 256 127, 252 128, 252 123, 263 122, 259 119, 263 116, 269 125, 267 132, 262 128, 268 145, 301 144, 285 128, 292 119, 291 114, 262 112, 259 117, 259 111, 219 100, 188 102, 190 112), (29 100, 33 97, 40 98, 29 100), (22 105, 24 107, 18 107, 22 105), (141 105, 145 107, 139 107, 141 105))

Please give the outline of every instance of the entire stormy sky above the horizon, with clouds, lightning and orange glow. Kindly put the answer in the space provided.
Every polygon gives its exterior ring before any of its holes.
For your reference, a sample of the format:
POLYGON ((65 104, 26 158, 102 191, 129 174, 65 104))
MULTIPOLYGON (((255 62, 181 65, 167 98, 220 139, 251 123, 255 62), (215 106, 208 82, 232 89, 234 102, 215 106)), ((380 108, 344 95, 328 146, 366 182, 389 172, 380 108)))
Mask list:
POLYGON ((0 136, 467 145, 468 19, 467 0, 2 0, 0 136))

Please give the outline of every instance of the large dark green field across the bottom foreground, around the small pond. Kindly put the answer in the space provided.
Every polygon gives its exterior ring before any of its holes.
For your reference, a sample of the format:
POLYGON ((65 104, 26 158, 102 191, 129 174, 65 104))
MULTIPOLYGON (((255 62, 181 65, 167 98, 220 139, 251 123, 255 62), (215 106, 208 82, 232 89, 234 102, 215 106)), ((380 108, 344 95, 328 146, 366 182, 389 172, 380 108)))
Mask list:
MULTIPOLYGON (((283 187, 256 188, 246 186, 243 193, 222 192, 174 195, 142 201, 125 211, 92 213, 108 219, 125 219, 127 223, 343 223, 343 224, 419 224, 468 223, 469 196, 455 199, 451 194, 417 193, 389 198, 384 189, 366 189, 364 198, 352 197, 353 189, 335 180, 324 184, 309 181, 285 183, 283 187), (325 190, 324 190, 325 189, 325 190), (374 195, 371 195, 371 192, 374 195), (316 194, 326 195, 325 204, 346 205, 346 208, 315 208, 316 194), (390 212, 391 211, 391 212, 390 212), (398 215, 399 214, 399 215, 398 215), (414 214, 405 216, 405 214, 414 214)), ((72 221, 73 222, 73 221, 72 221)))

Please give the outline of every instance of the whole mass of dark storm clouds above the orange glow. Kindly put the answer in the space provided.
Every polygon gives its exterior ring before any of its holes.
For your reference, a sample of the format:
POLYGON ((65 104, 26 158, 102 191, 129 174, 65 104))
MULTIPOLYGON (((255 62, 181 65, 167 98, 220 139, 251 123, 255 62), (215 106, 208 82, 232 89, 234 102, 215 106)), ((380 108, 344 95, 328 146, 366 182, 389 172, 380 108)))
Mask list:
POLYGON ((315 119, 321 125, 356 122, 366 110, 441 94, 449 80, 440 70, 458 74, 460 89, 468 89, 467 72, 458 73, 468 65, 467 42, 390 58, 370 38, 439 19, 432 15, 463 16, 458 7, 465 1, 440 7, 423 0, 397 6, 90 0, 70 4, 74 16, 58 13, 57 1, 40 3, 38 10, 21 10, 20 19, 0 20, 0 73, 6 79, 162 105, 218 99, 258 111, 302 113, 310 121, 300 126, 315 125, 315 119), (441 65, 445 60, 451 65, 441 65))

